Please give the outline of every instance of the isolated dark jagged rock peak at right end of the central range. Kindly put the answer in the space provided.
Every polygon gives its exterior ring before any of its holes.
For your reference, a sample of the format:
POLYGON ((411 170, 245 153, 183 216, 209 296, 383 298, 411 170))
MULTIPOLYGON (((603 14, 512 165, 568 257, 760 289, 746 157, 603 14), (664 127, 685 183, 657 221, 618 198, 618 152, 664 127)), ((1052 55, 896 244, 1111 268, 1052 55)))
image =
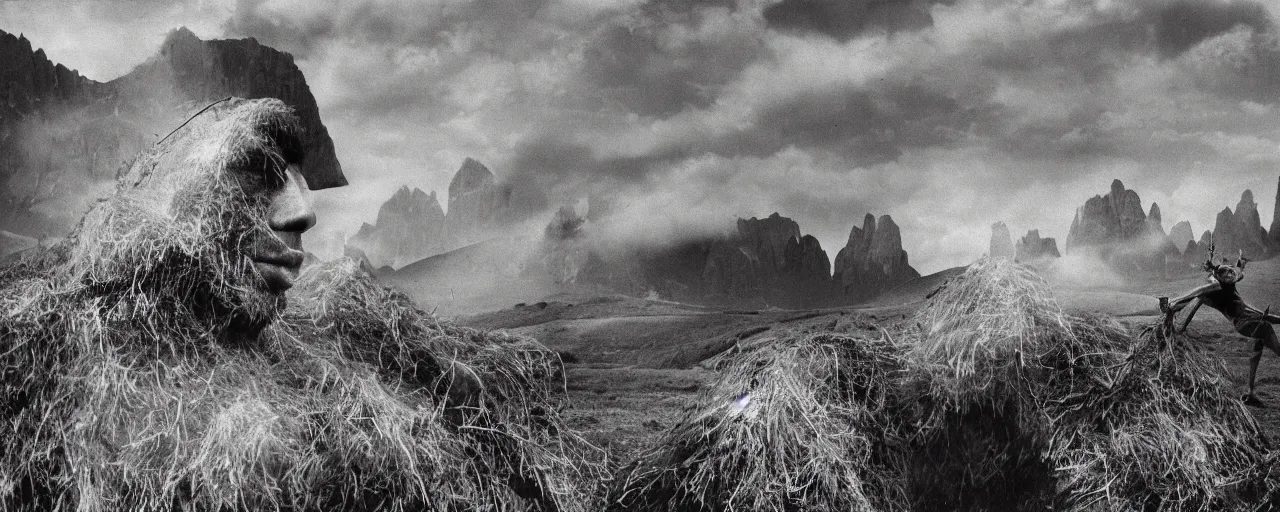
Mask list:
POLYGON ((872 214, 861 228, 849 232, 849 242, 836 253, 833 279, 841 293, 852 301, 874 297, 909 279, 919 278, 902 250, 902 234, 893 219, 872 214))

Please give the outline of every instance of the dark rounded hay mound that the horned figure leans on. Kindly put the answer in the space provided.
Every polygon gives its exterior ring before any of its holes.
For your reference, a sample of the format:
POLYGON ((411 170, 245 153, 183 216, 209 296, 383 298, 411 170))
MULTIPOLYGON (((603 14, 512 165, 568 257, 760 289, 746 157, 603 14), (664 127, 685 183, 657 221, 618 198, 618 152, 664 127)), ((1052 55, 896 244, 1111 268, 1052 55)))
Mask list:
POLYGON ((1075 319, 1041 358, 1046 460, 1070 509, 1253 509, 1268 447, 1198 340, 1075 319))

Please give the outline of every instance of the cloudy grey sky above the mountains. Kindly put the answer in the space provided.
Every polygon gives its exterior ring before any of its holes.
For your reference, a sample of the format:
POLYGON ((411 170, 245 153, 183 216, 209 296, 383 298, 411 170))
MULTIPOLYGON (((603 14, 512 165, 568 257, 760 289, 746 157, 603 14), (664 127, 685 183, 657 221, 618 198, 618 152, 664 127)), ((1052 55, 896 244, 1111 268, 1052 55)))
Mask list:
POLYGON ((892 215, 922 273, 989 225, 1065 242, 1120 178, 1197 233, 1280 177, 1280 3, 1248 0, 3 1, 0 28, 106 81, 187 26, 307 76, 353 232, 472 156, 648 225, 791 216, 835 257, 892 215))

